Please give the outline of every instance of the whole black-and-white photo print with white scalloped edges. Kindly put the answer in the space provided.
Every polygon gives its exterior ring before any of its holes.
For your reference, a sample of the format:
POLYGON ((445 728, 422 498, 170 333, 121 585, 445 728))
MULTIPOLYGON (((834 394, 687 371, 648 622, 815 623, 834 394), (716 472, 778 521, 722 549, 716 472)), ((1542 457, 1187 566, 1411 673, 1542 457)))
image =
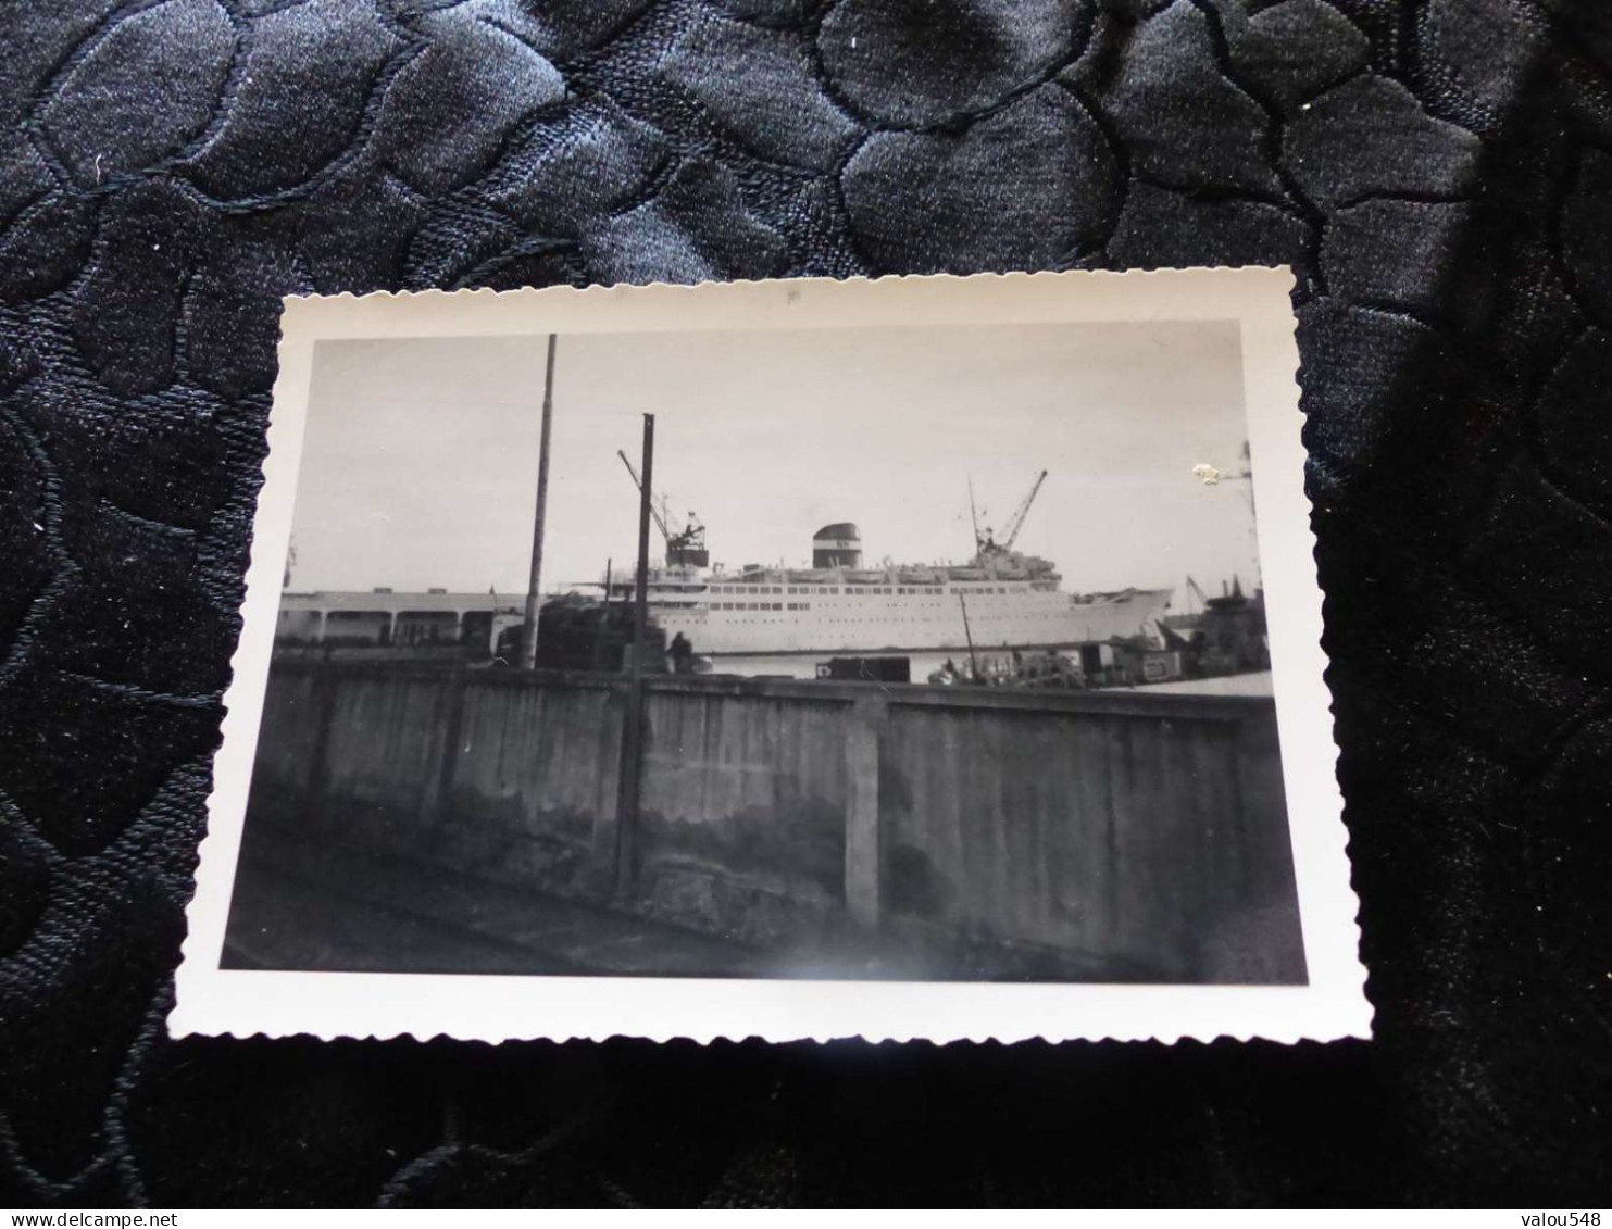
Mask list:
POLYGON ((1370 1036, 1291 285, 287 300, 169 1029, 1370 1036))

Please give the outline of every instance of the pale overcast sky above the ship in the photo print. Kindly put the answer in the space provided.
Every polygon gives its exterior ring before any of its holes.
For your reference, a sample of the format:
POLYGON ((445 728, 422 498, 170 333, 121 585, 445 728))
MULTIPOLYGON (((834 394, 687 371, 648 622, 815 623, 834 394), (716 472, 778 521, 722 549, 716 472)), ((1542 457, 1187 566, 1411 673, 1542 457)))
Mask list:
MULTIPOLYGON (((297 493, 298 590, 526 590, 543 338, 324 341, 297 493)), ((869 565, 964 561, 969 478, 1069 591, 1254 575, 1235 324, 563 335, 543 588, 630 565, 642 414, 654 486, 713 561, 804 565, 861 527, 869 565)), ((651 549, 659 554, 656 533, 651 549)))

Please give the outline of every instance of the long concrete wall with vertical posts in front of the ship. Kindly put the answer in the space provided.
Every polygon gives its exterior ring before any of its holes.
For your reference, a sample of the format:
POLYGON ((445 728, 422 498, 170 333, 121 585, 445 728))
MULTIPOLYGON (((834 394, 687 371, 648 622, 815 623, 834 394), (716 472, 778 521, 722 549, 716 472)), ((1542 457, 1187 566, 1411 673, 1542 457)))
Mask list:
POLYGON ((243 857, 292 833, 819 955, 1304 978, 1269 699, 659 677, 634 807, 629 686, 276 662, 243 857))

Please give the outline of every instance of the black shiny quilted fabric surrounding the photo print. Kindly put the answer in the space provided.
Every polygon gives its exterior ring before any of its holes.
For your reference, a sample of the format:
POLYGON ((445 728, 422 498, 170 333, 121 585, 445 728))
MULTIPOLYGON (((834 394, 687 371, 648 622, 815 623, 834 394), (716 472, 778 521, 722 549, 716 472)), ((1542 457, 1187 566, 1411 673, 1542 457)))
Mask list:
POLYGON ((1539 1203, 1612 1165, 1612 10, 0 10, 0 1203, 1539 1203), (1378 1039, 166 1037, 289 292, 1291 263, 1378 1039))

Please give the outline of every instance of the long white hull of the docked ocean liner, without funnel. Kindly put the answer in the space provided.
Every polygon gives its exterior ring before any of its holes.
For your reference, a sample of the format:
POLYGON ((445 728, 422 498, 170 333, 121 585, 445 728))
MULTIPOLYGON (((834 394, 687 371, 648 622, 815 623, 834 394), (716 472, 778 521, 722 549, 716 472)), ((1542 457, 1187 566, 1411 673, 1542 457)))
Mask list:
POLYGON ((1169 590, 1133 590, 1075 599, 1056 590, 975 586, 888 593, 806 586, 713 586, 709 596, 675 604, 653 602, 667 636, 682 633, 695 652, 924 652, 1069 648, 1114 636, 1156 638, 1169 590), (742 590, 737 594, 724 588, 742 590), (750 591, 745 591, 750 590, 750 591), (743 599, 743 601, 740 601, 743 599), (964 607, 967 625, 964 625, 964 607))

